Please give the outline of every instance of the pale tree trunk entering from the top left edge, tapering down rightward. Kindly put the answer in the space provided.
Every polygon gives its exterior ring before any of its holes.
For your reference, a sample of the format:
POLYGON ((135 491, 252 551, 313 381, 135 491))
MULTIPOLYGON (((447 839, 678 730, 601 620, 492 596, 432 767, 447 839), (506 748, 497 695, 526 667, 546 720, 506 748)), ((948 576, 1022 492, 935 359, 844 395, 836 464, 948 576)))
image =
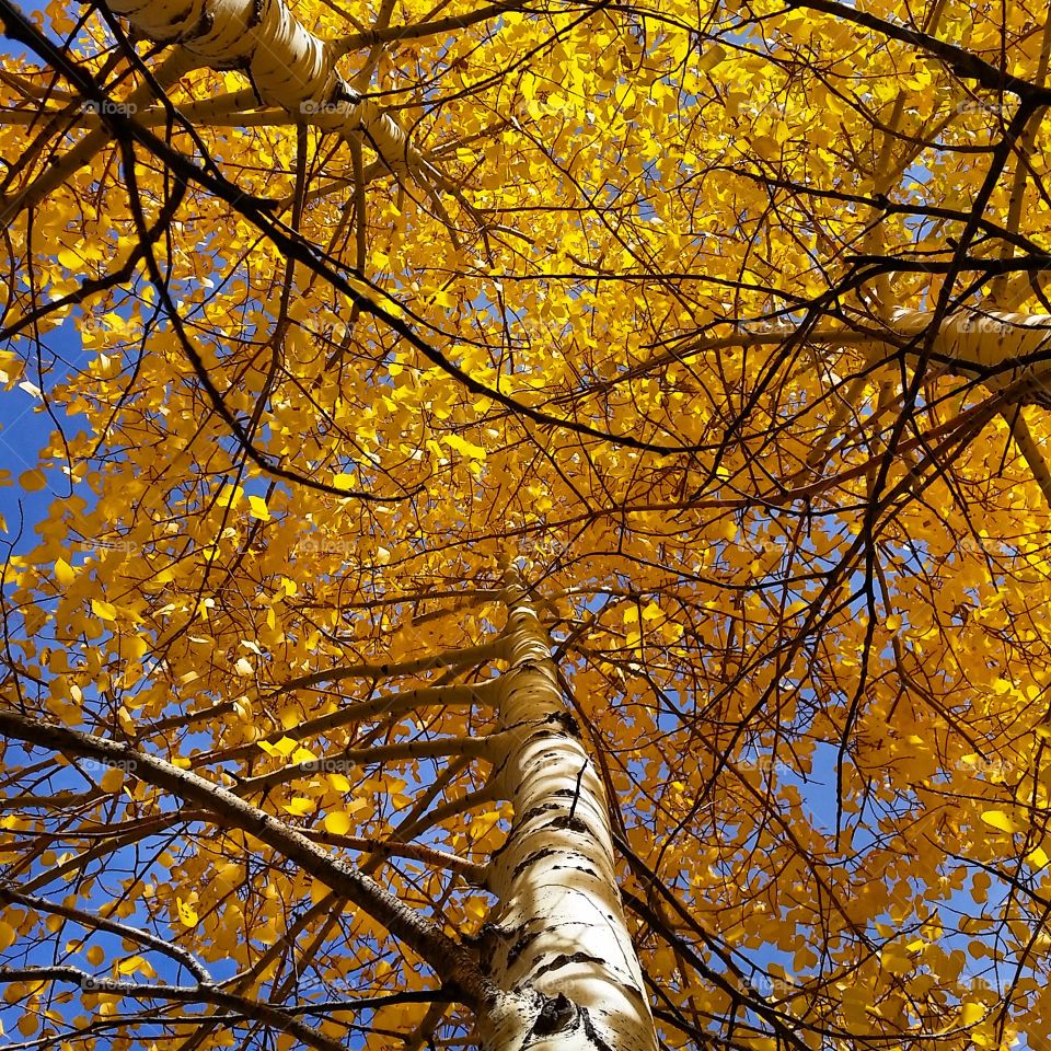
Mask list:
POLYGON ((392 170, 421 164, 397 124, 339 76, 336 49, 282 0, 111 0, 107 7, 148 39, 177 41, 203 66, 244 70, 264 105, 363 136, 392 170))

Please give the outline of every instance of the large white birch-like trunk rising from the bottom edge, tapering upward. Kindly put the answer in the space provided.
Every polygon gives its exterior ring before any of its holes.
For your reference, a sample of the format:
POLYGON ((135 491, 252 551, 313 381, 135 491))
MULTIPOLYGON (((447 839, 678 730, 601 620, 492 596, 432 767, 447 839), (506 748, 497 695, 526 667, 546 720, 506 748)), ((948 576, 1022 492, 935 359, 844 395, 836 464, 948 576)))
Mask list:
POLYGON ((642 969, 624 920, 602 782, 563 704, 546 636, 507 578, 508 661, 499 720, 515 744, 501 774, 515 819, 493 858, 498 898, 480 1009, 485 1051, 656 1051, 642 969))

